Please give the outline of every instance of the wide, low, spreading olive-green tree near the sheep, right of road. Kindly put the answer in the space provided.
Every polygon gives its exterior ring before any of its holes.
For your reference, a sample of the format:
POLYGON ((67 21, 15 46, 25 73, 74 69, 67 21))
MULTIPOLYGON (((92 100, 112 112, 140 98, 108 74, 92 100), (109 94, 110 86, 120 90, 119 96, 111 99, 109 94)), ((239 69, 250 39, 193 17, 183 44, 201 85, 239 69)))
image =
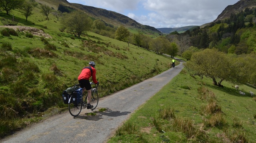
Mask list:
POLYGON ((245 60, 228 56, 216 49, 194 53, 191 60, 184 63, 184 67, 191 76, 211 78, 217 86, 223 86, 223 80, 235 84, 245 83, 249 72, 245 60))

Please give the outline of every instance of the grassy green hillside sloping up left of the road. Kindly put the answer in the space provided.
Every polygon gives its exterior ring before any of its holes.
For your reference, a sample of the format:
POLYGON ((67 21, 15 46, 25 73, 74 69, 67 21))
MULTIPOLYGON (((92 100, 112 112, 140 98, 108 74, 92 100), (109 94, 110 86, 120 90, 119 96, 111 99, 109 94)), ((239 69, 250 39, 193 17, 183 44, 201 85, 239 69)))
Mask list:
MULTIPOLYGON (((96 62, 100 97, 167 70, 171 59, 115 39, 88 32, 81 38, 60 32, 60 21, 39 13, 18 26, 0 27, 0 137, 46 117, 46 110, 67 110, 61 93, 75 83, 89 61, 96 62), (32 29, 33 27, 36 29, 32 29), (12 30, 14 29, 14 30, 12 30), (7 35, 11 33, 11 35, 7 35)), ((0 13, 1 18, 12 18, 0 13)))

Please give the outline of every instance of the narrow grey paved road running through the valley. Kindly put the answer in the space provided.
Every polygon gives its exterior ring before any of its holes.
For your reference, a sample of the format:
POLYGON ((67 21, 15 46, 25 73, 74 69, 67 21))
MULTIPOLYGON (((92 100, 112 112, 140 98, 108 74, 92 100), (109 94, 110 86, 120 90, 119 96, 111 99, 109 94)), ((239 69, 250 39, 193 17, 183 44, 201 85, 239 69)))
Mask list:
POLYGON ((23 129, 0 142, 105 143, 131 113, 180 73, 183 68, 182 63, 160 75, 101 98, 94 111, 82 109, 80 115, 75 118, 67 111, 23 129), (107 108, 107 110, 96 112, 93 116, 86 115, 100 108, 107 108))

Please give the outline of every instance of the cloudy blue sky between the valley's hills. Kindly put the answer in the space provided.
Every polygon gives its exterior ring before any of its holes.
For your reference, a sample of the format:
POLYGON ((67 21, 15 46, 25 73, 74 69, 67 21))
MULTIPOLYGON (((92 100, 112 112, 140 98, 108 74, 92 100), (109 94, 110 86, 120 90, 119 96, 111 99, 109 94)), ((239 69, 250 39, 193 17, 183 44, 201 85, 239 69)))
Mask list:
POLYGON ((154 28, 203 25, 239 0, 67 0, 103 8, 154 28))

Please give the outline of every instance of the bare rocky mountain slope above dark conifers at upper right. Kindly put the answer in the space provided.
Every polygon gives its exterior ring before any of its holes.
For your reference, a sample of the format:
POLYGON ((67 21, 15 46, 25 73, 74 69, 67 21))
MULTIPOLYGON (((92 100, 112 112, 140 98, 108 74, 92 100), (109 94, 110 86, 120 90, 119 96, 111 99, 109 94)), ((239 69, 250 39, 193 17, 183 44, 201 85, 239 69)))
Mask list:
POLYGON ((218 20, 224 20, 229 18, 231 13, 237 14, 246 8, 255 8, 256 7, 256 0, 240 0, 234 5, 227 6, 220 15, 214 20, 214 22, 218 20))

